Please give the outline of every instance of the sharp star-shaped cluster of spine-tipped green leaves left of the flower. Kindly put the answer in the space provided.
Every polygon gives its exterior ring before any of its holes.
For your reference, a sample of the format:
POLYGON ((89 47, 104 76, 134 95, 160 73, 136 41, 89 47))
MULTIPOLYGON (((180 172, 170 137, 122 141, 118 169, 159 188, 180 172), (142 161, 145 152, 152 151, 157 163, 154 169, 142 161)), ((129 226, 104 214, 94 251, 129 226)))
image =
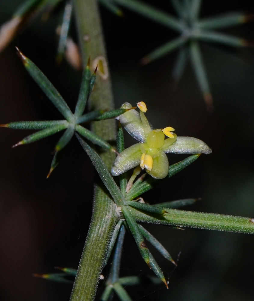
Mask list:
MULTIPOLYGON (((110 111, 96 110, 86 114, 84 113, 87 100, 92 92, 95 80, 96 80, 96 70, 91 74, 89 61, 87 67, 84 70, 81 88, 78 96, 78 101, 75 107, 74 114, 70 110, 69 106, 66 104, 63 97, 57 91, 57 89, 52 85, 52 83, 47 79, 47 77, 41 72, 41 70, 27 58, 20 50, 17 48, 18 54, 23 61, 26 70, 30 73, 32 78, 37 82, 45 95, 51 100, 54 106, 59 110, 65 119, 63 120, 48 120, 48 121, 20 121, 11 122, 7 124, 2 124, 0 126, 7 127, 10 129, 31 129, 38 130, 32 135, 27 136, 13 147, 22 144, 28 144, 45 138, 47 136, 53 135, 57 132, 65 130, 62 137, 57 142, 54 149, 54 157, 51 163, 51 168, 48 176, 54 170, 54 168, 59 163, 60 157, 63 154, 63 149, 71 140, 75 132, 85 137, 87 140, 91 141, 93 144, 98 145, 106 150, 117 151, 103 138, 94 134, 90 130, 82 126, 82 123, 87 123, 93 120, 103 120, 115 118, 123 113, 126 109, 116 109, 110 111)), ((97 68, 96 68, 97 69, 97 68)))

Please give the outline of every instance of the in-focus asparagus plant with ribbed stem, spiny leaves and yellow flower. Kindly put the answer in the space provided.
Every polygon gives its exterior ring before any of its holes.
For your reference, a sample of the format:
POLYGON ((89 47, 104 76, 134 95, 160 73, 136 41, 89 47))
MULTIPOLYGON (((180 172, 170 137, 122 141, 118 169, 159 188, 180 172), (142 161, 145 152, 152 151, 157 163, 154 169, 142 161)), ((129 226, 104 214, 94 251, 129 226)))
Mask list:
MULTIPOLYGON (((37 5, 37 2, 31 3, 37 5)), ((18 50, 26 69, 62 113, 64 119, 11 122, 2 126, 39 130, 14 146, 31 143, 65 129, 56 144, 50 172, 59 162, 58 155, 75 135, 100 178, 96 183, 91 225, 77 272, 73 268, 60 268, 63 273, 36 274, 36 276, 65 282, 70 281, 68 277, 76 276, 71 300, 91 301, 95 298, 99 279, 103 278, 102 269, 108 262, 112 262, 111 273, 106 279, 106 287, 101 299, 108 300, 112 296, 112 291, 115 291, 122 301, 127 301, 131 300, 131 297, 124 286, 138 284, 140 280, 135 276, 120 277, 121 252, 124 236, 127 235, 126 229, 135 240, 146 264, 168 287, 167 279, 148 249, 146 241, 149 241, 172 264, 176 265, 176 262, 163 245, 140 223, 253 234, 254 219, 176 209, 194 203, 196 199, 167 201, 155 205, 143 201, 141 195, 144 192, 164 183, 189 166, 200 157, 201 153, 210 154, 211 149, 197 138, 177 137, 173 133, 175 129, 171 126, 153 129, 145 117, 147 108, 144 102, 137 103, 139 113, 128 103, 123 104, 120 109, 113 108, 110 75, 97 3, 94 0, 75 0, 74 5, 84 66, 75 112, 72 113, 60 93, 39 68, 18 50), (97 73, 95 71, 91 74, 90 63, 85 65, 87 61, 95 66, 97 73), (84 114, 88 101, 92 110, 84 114), (117 135, 115 117, 119 120, 117 135), (91 130, 81 125, 87 122, 91 122, 91 130), (122 127, 139 143, 125 148, 122 127), (110 144, 114 140, 116 140, 117 150, 110 144), (166 153, 191 155, 169 165, 166 153), (132 168, 135 169, 129 177, 128 170, 132 168)), ((198 12, 198 9, 196 11, 198 12)), ((195 15, 197 17, 197 13, 195 15)), ((66 36, 66 33, 64 35, 66 36)))

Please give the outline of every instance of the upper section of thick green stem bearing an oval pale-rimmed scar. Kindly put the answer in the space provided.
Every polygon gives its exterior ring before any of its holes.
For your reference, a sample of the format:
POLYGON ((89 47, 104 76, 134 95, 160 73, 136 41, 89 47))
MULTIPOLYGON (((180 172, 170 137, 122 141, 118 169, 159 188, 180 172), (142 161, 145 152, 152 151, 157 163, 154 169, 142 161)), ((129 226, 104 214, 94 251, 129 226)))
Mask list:
MULTIPOLYGON (((90 97, 90 108, 111 110, 114 103, 97 1, 74 0, 74 4, 83 66, 87 64, 89 57, 91 70, 98 65, 96 82, 90 97)), ((92 129, 105 140, 116 139, 115 122, 112 120, 93 123, 92 129)))

